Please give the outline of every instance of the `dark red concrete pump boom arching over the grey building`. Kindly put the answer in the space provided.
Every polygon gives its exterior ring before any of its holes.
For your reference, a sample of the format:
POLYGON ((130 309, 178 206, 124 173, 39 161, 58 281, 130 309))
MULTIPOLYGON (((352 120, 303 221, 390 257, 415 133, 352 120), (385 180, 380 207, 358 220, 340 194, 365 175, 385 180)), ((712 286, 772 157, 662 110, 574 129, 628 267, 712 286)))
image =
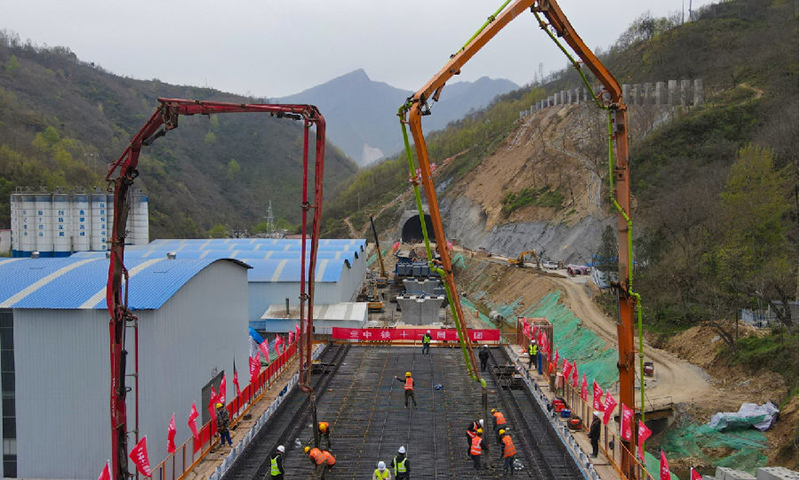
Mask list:
MULTIPOLYGON (((125 386, 125 366, 127 351, 125 350, 125 329, 134 328, 138 337, 137 319, 128 308, 128 270, 125 268, 125 225, 128 218, 128 193, 134 179, 139 175, 136 167, 142 146, 152 144, 170 130, 178 127, 181 115, 212 115, 218 113, 268 113, 277 118, 288 118, 303 121, 303 187, 301 201, 302 244, 300 255, 300 388, 308 392, 312 402, 312 412, 316 424, 316 408, 314 391, 310 386, 311 377, 311 345, 313 340, 313 305, 314 274, 316 270, 317 250, 319 244, 320 216, 322 214, 322 177, 325 159, 325 119, 317 107, 313 105, 271 105, 205 102, 199 100, 158 99, 160 105, 147 123, 133 137, 130 145, 120 157, 109 165, 106 181, 114 188, 114 223, 111 231, 111 247, 108 266, 108 284, 106 303, 111 316, 109 321, 110 354, 111 354, 111 448, 114 480, 127 480, 128 447, 127 412, 125 397, 128 387, 125 386), (316 130, 315 163, 314 163, 314 203, 308 201, 309 179, 309 130, 316 130), (115 175, 116 172, 116 176, 115 175), (308 211, 313 209, 311 222, 311 245, 306 269, 306 238, 308 211), (306 282, 306 273, 308 282, 306 282), (125 279, 123 292, 122 281, 125 279), (307 309, 306 309, 307 306, 307 309), (131 325, 128 325, 128 324, 131 325)), ((138 343, 138 342, 137 342, 138 343)), ((133 375, 138 387, 138 344, 134 352, 137 372, 133 375)), ((136 388, 138 396, 138 388, 136 388)), ((139 436, 139 402, 136 401, 136 427, 134 434, 139 436)), ((317 439, 317 444, 319 440, 317 439)))

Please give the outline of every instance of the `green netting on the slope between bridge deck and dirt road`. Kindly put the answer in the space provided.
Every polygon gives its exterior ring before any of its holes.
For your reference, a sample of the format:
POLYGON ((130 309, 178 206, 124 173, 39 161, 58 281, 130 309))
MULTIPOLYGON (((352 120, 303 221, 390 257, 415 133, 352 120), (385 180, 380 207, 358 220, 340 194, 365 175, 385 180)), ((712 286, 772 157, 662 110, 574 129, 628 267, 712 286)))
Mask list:
POLYGON ((560 299, 560 290, 549 293, 538 304, 525 309, 522 316, 547 318, 553 324, 553 340, 560 358, 575 362, 590 385, 594 380, 604 389, 610 388, 619 379, 616 348, 586 328, 574 313, 559 303, 560 299))

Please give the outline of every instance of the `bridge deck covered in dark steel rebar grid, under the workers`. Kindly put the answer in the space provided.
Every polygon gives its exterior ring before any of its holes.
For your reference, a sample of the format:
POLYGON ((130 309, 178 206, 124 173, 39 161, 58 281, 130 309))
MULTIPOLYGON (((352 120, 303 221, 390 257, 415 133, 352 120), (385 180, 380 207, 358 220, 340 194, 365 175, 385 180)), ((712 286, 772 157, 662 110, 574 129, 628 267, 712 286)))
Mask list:
MULTIPOLYGON (((528 390, 497 389, 489 370, 505 364, 507 357, 502 349, 491 350, 484 372, 489 409, 501 410, 511 425, 517 458, 525 467, 515 476, 583 478, 528 390)), ((480 386, 469 378, 460 349, 432 348, 430 355, 422 355, 418 347, 332 345, 317 371, 312 383, 318 419, 331 424, 337 460, 328 480, 372 478, 378 461, 388 465, 401 445, 408 450, 412 478, 505 478, 489 419, 485 469, 476 474, 467 458, 465 431, 483 414, 480 386), (414 377, 417 408, 404 406, 403 383, 394 378, 403 379, 406 371, 414 377)), ((286 447, 286 479, 315 478, 303 453, 312 441, 307 395, 295 389, 224 478, 269 478, 269 456, 279 444, 286 447)))

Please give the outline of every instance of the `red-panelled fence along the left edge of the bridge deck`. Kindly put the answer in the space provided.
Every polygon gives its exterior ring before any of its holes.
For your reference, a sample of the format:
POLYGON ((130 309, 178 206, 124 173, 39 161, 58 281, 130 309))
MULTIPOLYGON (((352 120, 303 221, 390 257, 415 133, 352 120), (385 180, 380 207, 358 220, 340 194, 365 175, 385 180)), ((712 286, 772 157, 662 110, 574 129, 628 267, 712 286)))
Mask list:
MULTIPOLYGON (((278 357, 258 374, 251 383, 225 406, 231 418, 231 427, 238 424, 255 403, 281 378, 286 369, 295 361, 297 343, 286 348, 278 357)), ((205 407, 205 406, 204 406, 205 407)), ((212 418, 199 429, 198 438, 189 438, 178 446, 175 453, 167 457, 153 469, 151 478, 155 480, 180 480, 191 471, 219 443, 216 438, 216 420, 212 418)))

